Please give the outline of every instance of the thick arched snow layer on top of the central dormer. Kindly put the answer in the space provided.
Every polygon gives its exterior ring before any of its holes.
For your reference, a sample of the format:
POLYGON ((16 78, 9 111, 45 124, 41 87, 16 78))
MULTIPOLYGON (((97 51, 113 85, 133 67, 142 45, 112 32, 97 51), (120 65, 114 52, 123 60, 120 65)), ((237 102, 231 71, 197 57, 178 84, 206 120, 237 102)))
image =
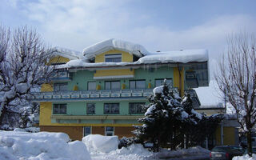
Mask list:
POLYGON ((130 54, 142 57, 142 55, 148 54, 148 51, 141 45, 132 42, 126 42, 120 39, 110 38, 102 42, 98 42, 92 46, 86 47, 82 54, 90 59, 94 58, 97 54, 102 54, 108 50, 122 50, 130 54))

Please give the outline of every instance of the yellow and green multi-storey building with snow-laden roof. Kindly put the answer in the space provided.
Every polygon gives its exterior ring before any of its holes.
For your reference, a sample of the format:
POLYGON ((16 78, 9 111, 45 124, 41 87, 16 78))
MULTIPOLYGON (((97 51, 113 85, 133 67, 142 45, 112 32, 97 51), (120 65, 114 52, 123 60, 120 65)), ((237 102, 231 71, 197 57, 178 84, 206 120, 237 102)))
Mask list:
POLYGON ((133 136, 142 105, 164 79, 181 96, 190 92, 194 108, 200 102, 192 88, 209 85, 206 50, 150 53, 109 39, 82 53, 58 49, 50 64, 52 82, 33 97, 40 102, 40 129, 78 140, 87 134, 133 136))

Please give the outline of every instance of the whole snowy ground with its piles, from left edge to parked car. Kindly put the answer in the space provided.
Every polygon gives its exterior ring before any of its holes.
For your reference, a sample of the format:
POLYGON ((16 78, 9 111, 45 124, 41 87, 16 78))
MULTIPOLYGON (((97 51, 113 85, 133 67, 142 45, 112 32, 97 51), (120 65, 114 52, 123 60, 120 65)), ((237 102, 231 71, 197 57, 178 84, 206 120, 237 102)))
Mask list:
POLYGON ((210 151, 201 147, 188 150, 161 150, 152 153, 135 144, 118 149, 116 136, 89 135, 81 141, 69 142, 64 133, 28 133, 0 130, 1 160, 145 160, 159 158, 208 158, 210 151))

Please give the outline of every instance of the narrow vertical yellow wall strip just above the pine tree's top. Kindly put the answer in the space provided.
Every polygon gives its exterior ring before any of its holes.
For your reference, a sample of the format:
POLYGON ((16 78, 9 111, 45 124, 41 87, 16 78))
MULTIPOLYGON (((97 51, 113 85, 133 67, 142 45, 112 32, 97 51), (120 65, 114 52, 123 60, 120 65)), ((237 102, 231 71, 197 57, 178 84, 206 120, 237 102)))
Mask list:
POLYGON ((181 79, 178 71, 178 67, 174 67, 174 87, 178 87, 178 90, 181 92, 181 96, 184 95, 184 67, 182 67, 181 79), (182 83, 181 86, 179 83, 182 83))

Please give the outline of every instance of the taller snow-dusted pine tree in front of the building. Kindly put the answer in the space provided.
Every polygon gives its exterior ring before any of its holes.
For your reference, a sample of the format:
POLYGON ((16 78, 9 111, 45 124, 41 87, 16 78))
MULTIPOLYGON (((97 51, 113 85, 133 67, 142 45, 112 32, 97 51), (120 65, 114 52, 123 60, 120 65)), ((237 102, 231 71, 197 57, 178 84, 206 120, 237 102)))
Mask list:
POLYGON ((168 146, 174 150, 181 142, 179 132, 181 124, 186 122, 188 114, 182 108, 181 98, 170 91, 166 82, 154 88, 154 95, 145 106, 145 118, 138 119, 142 126, 135 126, 134 134, 138 141, 150 141, 154 146, 168 146))

